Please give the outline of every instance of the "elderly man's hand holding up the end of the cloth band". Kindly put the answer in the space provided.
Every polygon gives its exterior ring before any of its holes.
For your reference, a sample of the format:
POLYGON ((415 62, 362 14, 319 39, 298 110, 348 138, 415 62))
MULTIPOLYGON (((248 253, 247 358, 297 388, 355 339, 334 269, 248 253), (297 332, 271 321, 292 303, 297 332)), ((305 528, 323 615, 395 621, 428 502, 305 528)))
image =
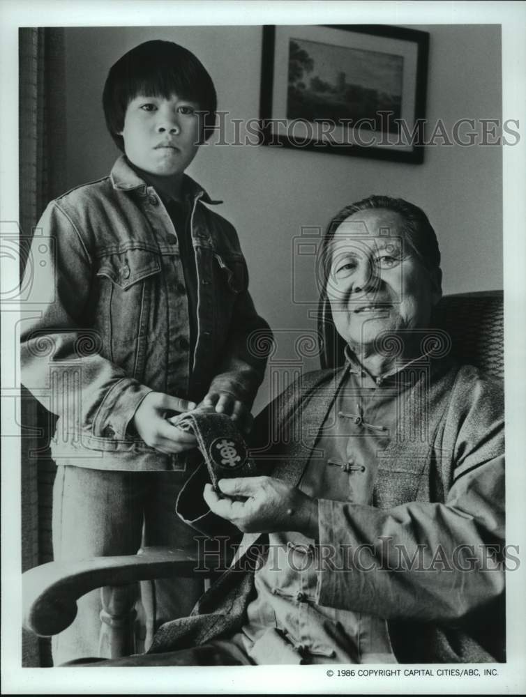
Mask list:
POLYGON ((242 533, 295 530, 317 538, 317 500, 296 487, 274 477, 223 479, 218 487, 226 498, 220 498, 211 484, 206 484, 204 500, 213 513, 234 523, 242 533))

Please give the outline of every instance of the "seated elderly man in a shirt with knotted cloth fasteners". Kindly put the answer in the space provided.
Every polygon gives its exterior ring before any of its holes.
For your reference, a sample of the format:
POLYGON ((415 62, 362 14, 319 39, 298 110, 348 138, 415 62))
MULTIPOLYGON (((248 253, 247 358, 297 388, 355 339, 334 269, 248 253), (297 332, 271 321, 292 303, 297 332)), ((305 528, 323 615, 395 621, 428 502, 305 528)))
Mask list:
POLYGON ((188 481, 183 519, 245 533, 234 563, 148 654, 107 665, 504 659, 502 389, 430 329, 435 232, 370 197, 333 219, 321 259, 345 367, 257 420, 266 475, 204 485, 199 512, 188 481))

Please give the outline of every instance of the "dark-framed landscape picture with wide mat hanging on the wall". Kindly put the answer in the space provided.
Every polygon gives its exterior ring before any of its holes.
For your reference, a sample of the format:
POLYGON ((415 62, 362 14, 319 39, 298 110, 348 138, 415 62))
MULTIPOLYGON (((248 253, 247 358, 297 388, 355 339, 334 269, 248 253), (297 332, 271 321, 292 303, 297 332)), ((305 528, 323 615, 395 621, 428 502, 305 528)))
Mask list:
POLYGON ((398 26, 264 26, 263 144, 423 162, 428 45, 398 26))

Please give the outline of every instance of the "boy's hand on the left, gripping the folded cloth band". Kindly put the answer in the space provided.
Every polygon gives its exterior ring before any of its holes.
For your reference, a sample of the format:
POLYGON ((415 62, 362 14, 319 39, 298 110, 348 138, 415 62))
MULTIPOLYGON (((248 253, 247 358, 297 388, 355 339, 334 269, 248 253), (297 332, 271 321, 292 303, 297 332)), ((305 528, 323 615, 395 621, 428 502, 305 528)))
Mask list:
POLYGON ((193 434, 181 431, 167 421, 167 412, 193 411, 195 403, 170 397, 163 392, 149 392, 142 400, 133 417, 133 425, 146 445, 160 452, 172 454, 193 450, 197 441, 193 434))

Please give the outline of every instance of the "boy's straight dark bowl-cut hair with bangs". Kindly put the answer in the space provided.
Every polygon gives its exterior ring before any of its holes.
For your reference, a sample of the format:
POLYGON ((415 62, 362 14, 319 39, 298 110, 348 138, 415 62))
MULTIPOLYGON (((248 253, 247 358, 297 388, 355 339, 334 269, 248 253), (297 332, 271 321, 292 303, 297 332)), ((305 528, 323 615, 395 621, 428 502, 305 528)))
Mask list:
POLYGON ((119 150, 124 141, 128 104, 138 94, 197 102, 203 117, 202 139, 208 139, 216 122, 217 96, 212 79, 188 49, 172 41, 146 41, 119 58, 110 68, 103 91, 106 125, 119 150))

